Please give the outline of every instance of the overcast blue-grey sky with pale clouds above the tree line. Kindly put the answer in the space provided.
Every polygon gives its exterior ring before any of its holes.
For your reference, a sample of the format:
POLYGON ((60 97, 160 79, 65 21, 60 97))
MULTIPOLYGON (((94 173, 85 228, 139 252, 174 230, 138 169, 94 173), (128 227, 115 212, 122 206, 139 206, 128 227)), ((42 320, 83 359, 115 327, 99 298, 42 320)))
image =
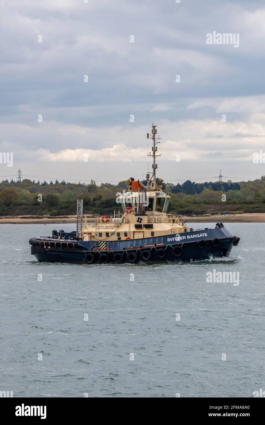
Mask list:
POLYGON ((2 0, 0 179, 142 178, 152 122, 164 181, 265 175, 264 22, 264 0, 2 0))

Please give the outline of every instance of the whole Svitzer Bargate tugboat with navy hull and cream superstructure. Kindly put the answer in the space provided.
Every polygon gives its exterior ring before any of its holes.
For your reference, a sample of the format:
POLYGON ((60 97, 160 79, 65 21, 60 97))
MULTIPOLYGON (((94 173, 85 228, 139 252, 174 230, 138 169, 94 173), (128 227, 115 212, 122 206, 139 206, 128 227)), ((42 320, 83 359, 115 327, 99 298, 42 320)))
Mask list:
POLYGON ((187 227, 179 215, 167 214, 170 193, 162 190, 156 178, 156 125, 152 125, 152 173, 145 184, 127 180, 127 191, 118 194, 121 211, 111 216, 95 215, 93 223, 77 201, 77 229, 74 232, 52 231, 52 236, 31 238, 31 253, 38 261, 53 263, 167 263, 201 261, 228 257, 240 238, 232 236, 222 223, 214 229, 187 227))

